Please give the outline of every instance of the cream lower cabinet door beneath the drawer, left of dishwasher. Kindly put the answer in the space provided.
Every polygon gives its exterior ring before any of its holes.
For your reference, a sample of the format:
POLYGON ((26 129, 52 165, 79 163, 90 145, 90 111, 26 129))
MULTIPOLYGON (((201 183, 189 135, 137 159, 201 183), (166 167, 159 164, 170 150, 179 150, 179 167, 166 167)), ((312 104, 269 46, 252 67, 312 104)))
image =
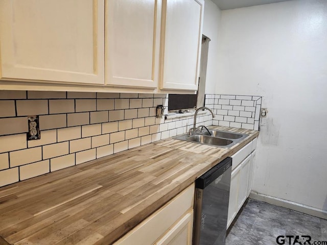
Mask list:
POLYGON ((191 245, 193 234, 193 209, 162 236, 155 245, 191 245))

